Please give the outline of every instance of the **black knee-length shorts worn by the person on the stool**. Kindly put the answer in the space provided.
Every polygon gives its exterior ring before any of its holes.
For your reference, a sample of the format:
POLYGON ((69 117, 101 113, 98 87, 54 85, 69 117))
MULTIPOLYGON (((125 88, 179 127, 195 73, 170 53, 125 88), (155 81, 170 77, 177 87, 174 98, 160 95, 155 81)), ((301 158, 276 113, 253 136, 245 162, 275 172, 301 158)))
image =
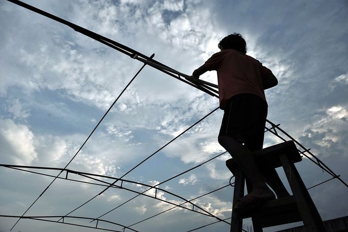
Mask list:
POLYGON ((219 136, 228 135, 251 151, 262 149, 267 103, 253 94, 235 95, 227 101, 219 136))

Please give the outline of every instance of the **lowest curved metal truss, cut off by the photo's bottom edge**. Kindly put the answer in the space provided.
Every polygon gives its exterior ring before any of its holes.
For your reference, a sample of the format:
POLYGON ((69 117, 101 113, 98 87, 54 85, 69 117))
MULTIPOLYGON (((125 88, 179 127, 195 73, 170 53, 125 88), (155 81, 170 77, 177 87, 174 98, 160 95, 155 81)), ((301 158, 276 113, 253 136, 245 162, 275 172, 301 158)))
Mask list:
MULTIPOLYGON (((57 221, 53 221, 53 220, 46 220, 43 218, 60 218, 62 216, 14 216, 14 215, 0 215, 0 217, 7 217, 7 218, 23 218, 23 219, 32 219, 32 220, 39 220, 39 221, 47 221, 47 222, 56 222, 57 221)), ((88 218, 88 217, 77 217, 77 216, 67 216, 65 218, 74 218, 74 219, 86 219, 86 220, 91 220, 93 218, 88 218)), ((115 231, 115 232, 124 232, 125 228, 130 229, 132 231, 138 232, 138 230, 132 229, 128 226, 124 226, 115 222, 111 222, 111 221, 107 221, 107 220, 98 220, 98 221, 103 221, 106 223, 110 223, 110 224, 114 224, 114 225, 118 225, 123 227, 122 231, 120 230, 113 230, 113 229, 106 229, 106 228, 98 228, 98 227, 94 227, 94 226, 86 226, 86 225, 80 225, 80 224, 72 224, 72 223, 67 223, 67 222, 58 222, 58 223, 62 223, 62 224, 68 224, 68 225, 76 225, 76 226, 81 226, 81 227, 87 227, 87 228, 92 228, 92 229, 102 229, 102 230, 108 230, 108 231, 115 231)))

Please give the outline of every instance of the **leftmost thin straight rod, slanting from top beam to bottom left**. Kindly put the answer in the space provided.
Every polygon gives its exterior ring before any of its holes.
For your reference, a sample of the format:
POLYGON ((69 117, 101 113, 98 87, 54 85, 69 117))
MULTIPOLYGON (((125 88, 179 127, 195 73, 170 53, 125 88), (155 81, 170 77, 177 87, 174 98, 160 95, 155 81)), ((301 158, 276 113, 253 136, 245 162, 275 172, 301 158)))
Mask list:
MULTIPOLYGON (((153 54, 150 58, 154 57, 155 54, 153 54)), ((111 108, 115 105, 115 103, 117 102, 117 100, 121 97, 121 95, 123 94, 123 92, 125 92, 125 90, 128 88, 128 86, 133 82, 133 80, 138 76, 138 74, 142 71, 142 69, 146 66, 146 64, 143 64, 142 67, 139 69, 139 71, 134 75, 134 77, 132 78, 132 80, 127 84, 127 86, 125 88, 123 88, 123 90, 121 91, 121 93, 118 95, 118 97, 116 98, 116 100, 111 104, 111 106, 109 107, 109 109, 105 112, 105 114, 103 115, 102 119, 97 123, 97 125, 94 127, 94 129, 92 130, 92 132, 88 135, 88 137, 86 138, 85 142, 82 144, 82 146, 79 148, 79 150, 76 152, 76 154, 74 154, 74 156, 70 159, 69 163, 64 167, 63 170, 60 171, 60 173, 52 180, 51 183, 48 184, 48 186, 42 191, 42 193, 36 198, 36 200, 27 208, 27 210, 22 214, 22 217, 24 216, 24 214, 26 214, 30 208, 36 203, 36 201, 47 191, 47 189, 49 187, 51 187, 51 185, 53 184, 53 182, 58 178, 58 176, 68 167, 68 165, 71 163, 71 161, 78 155, 78 153, 81 151, 81 149, 85 146, 85 144, 87 143, 87 141, 89 140, 89 138, 92 136, 92 134, 94 133, 94 131, 96 130, 96 128, 101 124, 101 122, 104 120, 104 118, 106 117, 106 115, 108 114, 108 112, 111 110, 111 108)), ((19 222, 21 218, 19 218, 16 223, 12 226, 12 228, 10 229, 10 231, 16 226, 16 224, 19 222)))

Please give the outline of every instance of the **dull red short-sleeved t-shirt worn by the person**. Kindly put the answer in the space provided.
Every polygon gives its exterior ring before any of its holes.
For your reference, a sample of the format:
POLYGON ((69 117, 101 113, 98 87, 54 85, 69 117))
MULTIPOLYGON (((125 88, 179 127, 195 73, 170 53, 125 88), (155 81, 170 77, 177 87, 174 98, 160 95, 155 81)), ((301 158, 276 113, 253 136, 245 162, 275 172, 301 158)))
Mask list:
POLYGON ((266 102, 262 77, 271 73, 257 59, 233 49, 212 55, 205 63, 208 71, 217 71, 220 108, 237 94, 255 94, 266 102))

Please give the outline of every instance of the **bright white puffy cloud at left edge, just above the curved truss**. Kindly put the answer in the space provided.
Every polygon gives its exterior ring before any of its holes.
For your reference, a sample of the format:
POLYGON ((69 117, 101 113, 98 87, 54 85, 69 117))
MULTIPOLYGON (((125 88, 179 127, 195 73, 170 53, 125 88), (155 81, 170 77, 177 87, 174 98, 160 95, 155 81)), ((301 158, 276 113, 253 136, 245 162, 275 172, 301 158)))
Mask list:
POLYGON ((30 165, 37 158, 34 140, 34 134, 26 125, 0 119, 2 163, 30 165))

